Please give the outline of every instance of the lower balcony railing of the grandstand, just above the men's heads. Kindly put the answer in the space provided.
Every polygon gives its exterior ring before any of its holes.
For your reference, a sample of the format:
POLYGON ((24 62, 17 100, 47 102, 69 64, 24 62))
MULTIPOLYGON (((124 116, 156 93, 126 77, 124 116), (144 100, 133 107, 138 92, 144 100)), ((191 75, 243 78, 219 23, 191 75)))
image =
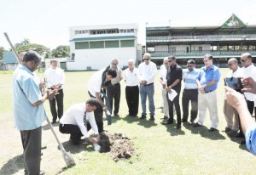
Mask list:
MULTIPOLYGON (((230 52, 230 51, 211 51, 211 50, 206 50, 206 51, 202 51, 202 52, 190 52, 190 53, 185 53, 185 52, 154 52, 154 53, 150 53, 151 57, 154 59, 154 57, 167 57, 170 55, 174 55, 177 58, 178 57, 202 57, 205 54, 212 54, 212 56, 221 56, 221 57, 225 57, 225 56, 240 56, 241 54, 245 53, 247 51, 234 51, 234 52, 230 52)), ((253 57, 256 56, 256 51, 248 51, 250 54, 252 54, 253 57)))

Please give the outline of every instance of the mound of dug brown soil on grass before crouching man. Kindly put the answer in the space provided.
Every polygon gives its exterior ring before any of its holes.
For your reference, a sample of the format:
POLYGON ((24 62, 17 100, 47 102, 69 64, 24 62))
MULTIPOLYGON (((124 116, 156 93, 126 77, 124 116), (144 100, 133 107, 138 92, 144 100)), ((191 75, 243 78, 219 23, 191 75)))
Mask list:
POLYGON ((114 161, 129 159, 134 152, 130 138, 123 137, 122 133, 102 133, 98 144, 102 147, 100 152, 107 153, 114 161))

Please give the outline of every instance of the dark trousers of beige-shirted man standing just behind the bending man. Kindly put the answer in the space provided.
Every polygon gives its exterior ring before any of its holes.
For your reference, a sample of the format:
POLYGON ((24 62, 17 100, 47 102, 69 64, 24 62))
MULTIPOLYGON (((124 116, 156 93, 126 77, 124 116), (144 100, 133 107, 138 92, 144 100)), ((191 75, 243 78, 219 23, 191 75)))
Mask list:
POLYGON ((117 83, 115 85, 108 85, 107 87, 107 96, 109 100, 109 104, 111 109, 109 109, 109 112, 112 114, 113 110, 113 100, 114 100, 114 110, 113 114, 119 114, 119 104, 120 104, 120 96, 121 96, 121 86, 120 83, 117 83))

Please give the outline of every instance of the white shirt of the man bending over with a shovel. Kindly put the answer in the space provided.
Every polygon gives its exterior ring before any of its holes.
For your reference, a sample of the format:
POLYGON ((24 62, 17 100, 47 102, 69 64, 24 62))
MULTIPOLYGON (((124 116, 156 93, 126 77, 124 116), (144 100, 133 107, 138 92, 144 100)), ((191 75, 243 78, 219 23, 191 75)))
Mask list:
POLYGON ((101 93, 102 89, 102 73, 106 69, 102 69, 100 71, 96 71, 87 82, 87 88, 91 95, 96 97, 96 93, 101 93))

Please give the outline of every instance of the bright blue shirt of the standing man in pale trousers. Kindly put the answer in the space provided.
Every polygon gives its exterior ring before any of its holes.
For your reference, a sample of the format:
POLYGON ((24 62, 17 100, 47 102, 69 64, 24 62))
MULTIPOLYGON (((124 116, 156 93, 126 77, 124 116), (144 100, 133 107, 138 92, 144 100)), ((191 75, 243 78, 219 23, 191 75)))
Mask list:
POLYGON ((215 81, 211 87, 205 88, 205 92, 214 91, 218 87, 218 82, 220 78, 220 71, 217 66, 212 65, 209 69, 207 66, 204 66, 200 69, 200 72, 196 79, 201 83, 201 86, 211 82, 212 80, 215 81))

